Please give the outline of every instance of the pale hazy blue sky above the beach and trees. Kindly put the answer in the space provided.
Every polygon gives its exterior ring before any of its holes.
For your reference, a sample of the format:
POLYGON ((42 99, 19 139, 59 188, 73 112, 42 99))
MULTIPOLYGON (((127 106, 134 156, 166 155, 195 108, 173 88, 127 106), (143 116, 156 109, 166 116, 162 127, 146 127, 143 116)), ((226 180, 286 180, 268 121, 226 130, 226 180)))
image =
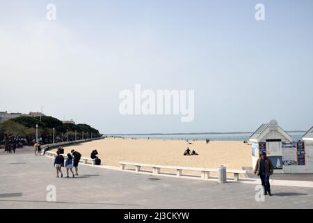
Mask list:
POLYGON ((0 111, 43 106, 104 134, 313 125, 313 1, 0 3, 0 111), (264 21, 255 20, 257 3, 264 21), (120 114, 120 92, 135 84, 193 90, 193 121, 120 114))

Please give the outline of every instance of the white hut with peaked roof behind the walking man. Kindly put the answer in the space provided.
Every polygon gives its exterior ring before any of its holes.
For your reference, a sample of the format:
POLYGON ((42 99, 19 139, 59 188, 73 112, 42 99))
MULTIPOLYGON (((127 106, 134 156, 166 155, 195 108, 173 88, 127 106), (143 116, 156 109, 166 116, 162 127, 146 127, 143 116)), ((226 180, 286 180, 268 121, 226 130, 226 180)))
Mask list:
MULTIPOLYGON (((262 124, 251 136, 252 143, 252 167, 255 167, 259 154, 266 152, 268 159, 273 162, 276 173, 283 172, 282 148, 292 146, 291 136, 285 132, 278 122, 262 124)), ((294 153, 296 155, 296 153, 294 153)))

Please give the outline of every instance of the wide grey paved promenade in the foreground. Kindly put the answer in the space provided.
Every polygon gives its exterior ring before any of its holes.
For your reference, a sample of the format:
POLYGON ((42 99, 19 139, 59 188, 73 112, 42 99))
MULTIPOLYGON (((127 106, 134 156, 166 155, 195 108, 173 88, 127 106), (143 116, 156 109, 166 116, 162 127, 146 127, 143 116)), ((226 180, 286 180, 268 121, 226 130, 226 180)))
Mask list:
MULTIPOLYGON (((65 169, 63 174, 65 175, 65 169)), ((53 160, 33 153, 0 155, 0 208, 313 208, 309 187, 273 186, 255 201, 255 185, 220 184, 79 166, 77 178, 56 178, 53 160), (46 199, 56 186, 56 202, 46 199)))

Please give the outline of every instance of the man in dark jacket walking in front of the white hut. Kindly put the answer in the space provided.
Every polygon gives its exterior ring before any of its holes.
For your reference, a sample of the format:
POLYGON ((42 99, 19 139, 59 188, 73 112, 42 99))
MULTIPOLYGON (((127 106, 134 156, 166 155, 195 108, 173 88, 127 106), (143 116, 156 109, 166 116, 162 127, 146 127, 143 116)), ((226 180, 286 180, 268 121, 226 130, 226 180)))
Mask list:
POLYGON ((269 177, 273 174, 273 171, 273 164, 271 160, 266 157, 266 152, 263 151, 255 165, 255 174, 261 178, 262 186, 264 187, 264 195, 268 194, 269 196, 272 196, 269 177))

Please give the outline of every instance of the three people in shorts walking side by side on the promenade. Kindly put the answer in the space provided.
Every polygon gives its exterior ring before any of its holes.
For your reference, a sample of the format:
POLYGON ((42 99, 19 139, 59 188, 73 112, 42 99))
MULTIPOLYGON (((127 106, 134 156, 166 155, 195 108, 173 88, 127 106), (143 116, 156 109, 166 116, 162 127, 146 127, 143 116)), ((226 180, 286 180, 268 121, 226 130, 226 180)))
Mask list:
MULTIPOLYGON (((61 178, 63 178, 63 172, 62 167, 64 167, 64 157, 63 157, 63 148, 58 148, 58 151, 56 152, 56 158, 54 159, 54 167, 56 167, 56 177, 59 177, 59 173, 61 174, 61 178)), ((75 175, 78 176, 78 164, 79 160, 81 160, 81 153, 75 151, 72 149, 71 153, 67 153, 66 160, 65 160, 65 168, 67 173, 67 178, 69 178, 69 171, 72 173, 72 177, 74 178, 75 175), (73 171, 73 167, 75 169, 75 174, 73 171)))

